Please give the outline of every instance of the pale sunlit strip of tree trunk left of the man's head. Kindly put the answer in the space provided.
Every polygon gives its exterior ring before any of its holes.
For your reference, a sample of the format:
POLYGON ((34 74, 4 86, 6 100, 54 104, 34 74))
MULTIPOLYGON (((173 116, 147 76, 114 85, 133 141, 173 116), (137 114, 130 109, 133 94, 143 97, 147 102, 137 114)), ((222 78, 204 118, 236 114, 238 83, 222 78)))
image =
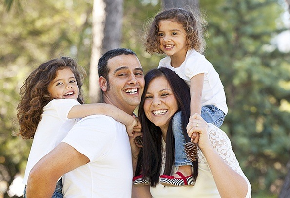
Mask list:
POLYGON ((89 97, 90 103, 97 103, 101 100, 100 87, 98 84, 97 64, 101 57, 102 40, 104 38, 105 2, 94 0, 92 13, 92 52, 90 59, 89 74, 89 97))

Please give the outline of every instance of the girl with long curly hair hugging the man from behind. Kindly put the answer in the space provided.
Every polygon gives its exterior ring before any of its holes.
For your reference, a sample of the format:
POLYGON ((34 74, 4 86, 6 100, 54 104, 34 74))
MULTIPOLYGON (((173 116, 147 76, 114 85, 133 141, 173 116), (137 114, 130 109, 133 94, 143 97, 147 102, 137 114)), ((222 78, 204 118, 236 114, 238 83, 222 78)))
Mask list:
MULTIPOLYGON (((33 139, 23 178, 25 185, 33 166, 61 142, 80 118, 94 114, 111 116, 126 125, 130 136, 137 126, 134 116, 113 105, 84 105, 81 91, 84 75, 74 59, 61 57, 41 64, 21 87, 22 98, 17 107, 19 134, 23 139, 33 139)), ((61 178, 53 197, 63 197, 61 178)))

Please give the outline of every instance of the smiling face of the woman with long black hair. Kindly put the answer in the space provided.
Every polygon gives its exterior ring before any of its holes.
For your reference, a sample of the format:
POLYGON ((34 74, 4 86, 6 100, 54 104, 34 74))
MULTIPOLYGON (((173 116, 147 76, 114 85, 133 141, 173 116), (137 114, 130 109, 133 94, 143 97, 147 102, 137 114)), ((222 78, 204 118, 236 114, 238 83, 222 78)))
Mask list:
POLYGON ((143 108, 146 117, 162 132, 167 132, 169 120, 179 108, 164 76, 156 77, 149 83, 143 108))

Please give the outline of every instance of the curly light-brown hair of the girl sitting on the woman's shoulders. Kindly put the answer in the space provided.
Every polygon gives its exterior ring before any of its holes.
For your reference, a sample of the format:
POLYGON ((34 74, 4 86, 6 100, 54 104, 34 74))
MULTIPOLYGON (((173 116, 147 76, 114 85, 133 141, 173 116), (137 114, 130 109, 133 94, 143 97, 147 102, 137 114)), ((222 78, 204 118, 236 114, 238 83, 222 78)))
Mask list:
POLYGON ((154 52, 163 54, 160 49, 160 41, 158 39, 159 22, 161 20, 174 20, 180 23, 186 32, 186 46, 187 49, 194 48, 199 53, 203 53, 205 49, 204 30, 207 22, 201 16, 198 9, 169 8, 165 9, 155 16, 153 20, 148 22, 145 27, 145 36, 143 38, 143 45, 145 51, 149 54, 154 52))

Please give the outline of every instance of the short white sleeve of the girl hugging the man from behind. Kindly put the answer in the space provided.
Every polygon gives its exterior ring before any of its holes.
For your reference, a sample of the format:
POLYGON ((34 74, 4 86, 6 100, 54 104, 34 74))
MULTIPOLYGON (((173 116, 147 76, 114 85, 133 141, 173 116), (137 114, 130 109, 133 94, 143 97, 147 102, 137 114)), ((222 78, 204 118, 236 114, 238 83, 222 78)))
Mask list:
POLYGON ((80 103, 74 99, 54 99, 50 101, 50 103, 51 108, 53 108, 57 112, 58 117, 62 120, 69 120, 67 116, 70 110, 75 105, 80 105, 80 103))

